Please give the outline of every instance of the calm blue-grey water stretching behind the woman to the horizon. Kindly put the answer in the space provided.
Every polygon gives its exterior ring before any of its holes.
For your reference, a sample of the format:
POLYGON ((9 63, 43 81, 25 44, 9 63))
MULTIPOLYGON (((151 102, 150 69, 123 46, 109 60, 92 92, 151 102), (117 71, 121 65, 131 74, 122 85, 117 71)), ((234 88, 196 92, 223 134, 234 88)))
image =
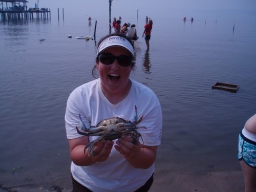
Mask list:
MULTIPOLYGON (((237 137, 256 113, 255 20, 155 18, 151 49, 145 52, 144 18, 131 19, 140 37, 131 77, 157 94, 163 110, 156 177, 240 170, 237 137), (216 81, 238 84, 239 91, 211 90, 216 81)), ((108 23, 98 18, 96 41, 75 38, 93 36, 94 22, 0 23, 4 187, 71 188, 64 115, 72 90, 93 80, 95 46, 109 32, 108 23)))

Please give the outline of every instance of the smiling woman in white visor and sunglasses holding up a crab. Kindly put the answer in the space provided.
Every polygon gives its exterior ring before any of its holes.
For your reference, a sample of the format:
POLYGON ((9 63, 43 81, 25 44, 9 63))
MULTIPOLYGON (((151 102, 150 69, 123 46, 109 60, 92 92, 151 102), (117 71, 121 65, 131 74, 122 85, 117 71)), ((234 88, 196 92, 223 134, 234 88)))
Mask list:
POLYGON ((69 96, 65 120, 74 192, 147 191, 153 183, 162 110, 152 90, 130 79, 133 59, 134 47, 129 38, 122 34, 103 37, 93 69, 98 70, 99 78, 76 88, 69 96), (86 147, 104 134, 99 122, 114 117, 135 125, 137 122, 141 138, 134 142, 130 134, 114 140, 104 136, 93 147, 86 147), (91 133, 81 135, 76 126, 91 133))

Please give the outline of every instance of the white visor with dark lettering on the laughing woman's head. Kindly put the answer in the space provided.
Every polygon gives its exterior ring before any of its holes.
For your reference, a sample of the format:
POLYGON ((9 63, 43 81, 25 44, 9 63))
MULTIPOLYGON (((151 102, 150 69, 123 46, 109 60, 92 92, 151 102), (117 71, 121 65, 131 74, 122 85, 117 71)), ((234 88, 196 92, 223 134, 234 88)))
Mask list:
POLYGON ((104 50, 110 47, 122 47, 129 51, 129 53, 134 57, 134 48, 132 44, 127 39, 120 36, 111 36, 104 39, 99 45, 97 54, 102 53, 104 50))

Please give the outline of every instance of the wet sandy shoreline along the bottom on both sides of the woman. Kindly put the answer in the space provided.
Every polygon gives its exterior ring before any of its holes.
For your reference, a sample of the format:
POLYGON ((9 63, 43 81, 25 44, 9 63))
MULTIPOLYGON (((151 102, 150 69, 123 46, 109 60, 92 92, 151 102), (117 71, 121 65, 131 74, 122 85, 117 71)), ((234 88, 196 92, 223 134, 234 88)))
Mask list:
MULTIPOLYGON (((36 191, 58 191, 68 192, 71 188, 62 189, 58 185, 51 187, 36 187, 31 185, 23 186, 0 186, 0 192, 19 191, 19 192, 36 192, 36 191)), ((239 192, 244 191, 244 181, 242 170, 211 171, 207 174, 191 174, 177 172, 163 172, 156 170, 154 182, 149 190, 155 191, 175 191, 175 192, 239 192)))

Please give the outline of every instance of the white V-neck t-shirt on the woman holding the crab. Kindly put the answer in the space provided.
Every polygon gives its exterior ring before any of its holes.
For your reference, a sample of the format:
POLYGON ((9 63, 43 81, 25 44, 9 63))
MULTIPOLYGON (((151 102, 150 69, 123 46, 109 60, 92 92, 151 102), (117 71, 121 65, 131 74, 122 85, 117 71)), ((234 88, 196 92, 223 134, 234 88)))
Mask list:
MULTIPOLYGON (((79 114, 87 127, 97 125, 102 119, 118 116, 133 121, 135 105, 138 118, 143 119, 136 127, 141 134, 141 143, 157 146, 161 142, 162 110, 155 93, 143 84, 132 81, 129 94, 119 103, 112 104, 101 91, 100 79, 76 88, 67 102, 66 132, 68 139, 81 137, 76 131, 79 126, 79 114)), ((90 141, 98 136, 89 137, 90 141)), ((116 140, 114 140, 116 141, 116 140)), ((71 163, 74 179, 90 190, 97 191, 134 191, 145 184, 154 173, 154 164, 147 169, 135 168, 114 148, 104 162, 90 166, 78 166, 71 163)))

